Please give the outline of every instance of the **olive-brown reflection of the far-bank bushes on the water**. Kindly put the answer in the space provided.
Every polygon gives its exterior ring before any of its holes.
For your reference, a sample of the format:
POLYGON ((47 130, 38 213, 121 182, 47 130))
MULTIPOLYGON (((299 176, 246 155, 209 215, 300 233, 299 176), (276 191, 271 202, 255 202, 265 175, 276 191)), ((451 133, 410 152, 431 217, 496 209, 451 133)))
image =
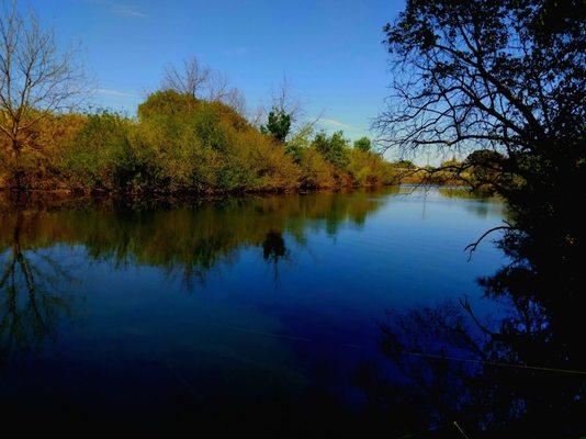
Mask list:
MULTIPOLYGON (((363 224, 382 203, 383 199, 360 191, 227 199, 195 207, 155 205, 147 210, 106 201, 101 205, 49 207, 38 222, 23 225, 29 228, 21 239, 47 247, 80 244, 90 258, 116 267, 159 267, 191 290, 205 283, 213 269, 232 264, 239 249, 261 248, 263 260, 275 268, 288 256, 284 233, 298 245, 305 243, 307 232, 327 229, 336 235, 345 223, 363 224)), ((4 207, 2 221, 13 221, 12 205, 4 207)), ((38 203, 32 211, 40 211, 38 203)), ((0 240, 8 238, 7 229, 0 230, 0 240)))

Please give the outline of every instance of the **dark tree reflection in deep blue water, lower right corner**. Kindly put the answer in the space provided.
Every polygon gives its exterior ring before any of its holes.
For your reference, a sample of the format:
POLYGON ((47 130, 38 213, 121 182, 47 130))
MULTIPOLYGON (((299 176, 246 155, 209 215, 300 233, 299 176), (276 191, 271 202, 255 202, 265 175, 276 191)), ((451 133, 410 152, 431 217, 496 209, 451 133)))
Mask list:
POLYGON ((476 315, 466 300, 388 314, 380 346, 391 365, 364 368, 360 384, 373 409, 392 414, 392 428, 452 437, 586 432, 575 294, 582 274, 567 277, 563 249, 543 247, 530 257, 526 246, 536 241, 529 236, 508 233, 499 245, 512 262, 480 280, 485 300, 505 305, 504 315, 476 315))

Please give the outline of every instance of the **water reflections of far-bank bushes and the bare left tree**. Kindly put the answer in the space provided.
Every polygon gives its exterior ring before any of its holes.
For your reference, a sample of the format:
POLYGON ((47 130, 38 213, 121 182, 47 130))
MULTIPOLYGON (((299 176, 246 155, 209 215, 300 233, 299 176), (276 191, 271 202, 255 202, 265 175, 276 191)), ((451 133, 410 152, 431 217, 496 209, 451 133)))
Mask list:
MULTIPOLYGON (((394 190, 390 190, 393 192, 394 190)), ((74 284, 64 261, 43 249, 81 245, 92 260, 116 268, 159 267, 180 277, 187 289, 205 284, 209 272, 229 266, 236 252, 260 247, 278 280, 288 258, 284 234, 303 245, 305 233, 322 227, 335 235, 345 222, 363 225, 383 203, 368 192, 339 196, 229 199, 199 207, 135 210, 115 206, 57 205, 53 200, 2 200, 0 216, 0 359, 40 347, 58 318, 71 313, 74 284)))

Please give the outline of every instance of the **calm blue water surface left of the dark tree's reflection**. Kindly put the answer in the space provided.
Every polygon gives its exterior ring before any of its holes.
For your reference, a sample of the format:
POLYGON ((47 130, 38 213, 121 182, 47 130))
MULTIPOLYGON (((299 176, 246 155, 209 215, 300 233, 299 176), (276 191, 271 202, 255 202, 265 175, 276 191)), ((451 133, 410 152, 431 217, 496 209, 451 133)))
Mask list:
POLYGON ((499 313, 463 249, 503 205, 457 189, 4 211, 0 417, 340 432, 388 312, 499 313))

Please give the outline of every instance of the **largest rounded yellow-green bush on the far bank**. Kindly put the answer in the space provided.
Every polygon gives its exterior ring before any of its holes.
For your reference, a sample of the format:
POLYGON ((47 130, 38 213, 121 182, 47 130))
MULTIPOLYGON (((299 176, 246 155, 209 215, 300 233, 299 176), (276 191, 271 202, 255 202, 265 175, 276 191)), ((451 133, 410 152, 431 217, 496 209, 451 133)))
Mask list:
POLYGON ((138 121, 89 116, 66 158, 72 185, 92 190, 280 190, 300 181, 284 147, 234 110, 174 91, 151 94, 138 121))

